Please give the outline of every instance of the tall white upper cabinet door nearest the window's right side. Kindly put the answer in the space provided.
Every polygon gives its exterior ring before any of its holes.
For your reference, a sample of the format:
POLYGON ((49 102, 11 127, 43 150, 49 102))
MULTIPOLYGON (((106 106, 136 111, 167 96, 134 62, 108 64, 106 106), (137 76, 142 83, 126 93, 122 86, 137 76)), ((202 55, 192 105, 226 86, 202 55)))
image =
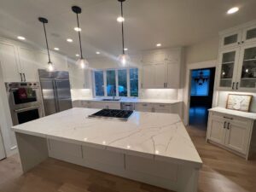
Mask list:
POLYGON ((154 88, 154 65, 143 66, 143 89, 154 88))

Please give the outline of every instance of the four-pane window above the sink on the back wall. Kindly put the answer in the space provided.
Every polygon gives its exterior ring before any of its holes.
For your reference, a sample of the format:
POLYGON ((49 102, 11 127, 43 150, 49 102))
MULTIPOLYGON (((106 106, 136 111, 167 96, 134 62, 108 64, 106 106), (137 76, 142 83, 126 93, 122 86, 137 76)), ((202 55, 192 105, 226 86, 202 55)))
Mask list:
POLYGON ((138 96, 138 69, 94 71, 95 96, 138 96))

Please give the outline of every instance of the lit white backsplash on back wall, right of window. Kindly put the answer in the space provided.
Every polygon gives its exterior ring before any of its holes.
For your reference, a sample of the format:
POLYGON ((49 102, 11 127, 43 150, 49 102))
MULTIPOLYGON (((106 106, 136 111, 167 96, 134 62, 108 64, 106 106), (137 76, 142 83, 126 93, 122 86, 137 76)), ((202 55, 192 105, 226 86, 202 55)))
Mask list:
POLYGON ((140 99, 168 99, 177 100, 178 90, 176 89, 142 89, 140 99))

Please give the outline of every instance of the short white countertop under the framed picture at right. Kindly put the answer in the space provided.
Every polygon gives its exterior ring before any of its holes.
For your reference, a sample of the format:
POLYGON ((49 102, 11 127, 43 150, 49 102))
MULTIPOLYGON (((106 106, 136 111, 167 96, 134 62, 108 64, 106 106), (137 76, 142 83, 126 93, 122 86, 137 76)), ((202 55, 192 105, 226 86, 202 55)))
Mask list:
POLYGON ((248 113, 248 112, 236 111, 236 110, 231 110, 231 109, 227 109, 227 108, 220 108, 220 107, 210 108, 209 111, 231 114, 231 115, 235 115, 235 116, 242 117, 242 118, 256 120, 256 113, 248 113))

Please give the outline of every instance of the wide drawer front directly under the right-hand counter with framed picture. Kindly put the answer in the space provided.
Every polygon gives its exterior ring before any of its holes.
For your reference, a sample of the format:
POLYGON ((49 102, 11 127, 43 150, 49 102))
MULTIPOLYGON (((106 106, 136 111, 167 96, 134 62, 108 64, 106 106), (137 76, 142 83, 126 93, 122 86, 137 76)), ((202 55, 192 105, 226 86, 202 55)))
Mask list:
POLYGON ((242 117, 236 117, 230 114, 211 112, 212 118, 214 119, 224 119, 226 121, 232 122, 236 125, 251 125, 251 119, 246 119, 242 117))

